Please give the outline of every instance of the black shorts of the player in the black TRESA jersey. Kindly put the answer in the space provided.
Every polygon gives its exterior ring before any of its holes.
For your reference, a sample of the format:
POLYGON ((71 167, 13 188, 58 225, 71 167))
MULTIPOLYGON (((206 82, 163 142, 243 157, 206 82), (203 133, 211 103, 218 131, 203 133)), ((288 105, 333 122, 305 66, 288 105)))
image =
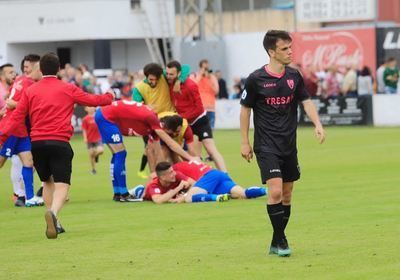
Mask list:
POLYGON ((256 157, 263 184, 272 178, 282 178, 283 182, 294 182, 300 179, 297 153, 284 157, 272 153, 257 153, 256 157))

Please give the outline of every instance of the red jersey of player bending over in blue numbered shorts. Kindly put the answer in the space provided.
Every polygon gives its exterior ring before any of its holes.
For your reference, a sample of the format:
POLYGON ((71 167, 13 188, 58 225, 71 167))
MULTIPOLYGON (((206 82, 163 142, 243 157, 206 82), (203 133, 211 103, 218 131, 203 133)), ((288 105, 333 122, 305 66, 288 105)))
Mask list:
POLYGON ((158 139, 154 132, 161 129, 160 120, 150 107, 135 101, 114 101, 110 106, 101 108, 106 120, 115 123, 122 135, 151 136, 158 139))

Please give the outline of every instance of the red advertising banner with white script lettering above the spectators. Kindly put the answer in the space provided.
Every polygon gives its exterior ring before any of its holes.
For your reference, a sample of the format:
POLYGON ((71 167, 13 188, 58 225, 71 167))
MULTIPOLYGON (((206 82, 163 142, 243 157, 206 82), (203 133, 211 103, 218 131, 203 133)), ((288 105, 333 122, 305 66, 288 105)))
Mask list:
POLYGON ((295 32, 293 58, 302 67, 316 71, 336 66, 343 72, 347 66, 368 66, 376 71, 376 35, 374 28, 295 32))

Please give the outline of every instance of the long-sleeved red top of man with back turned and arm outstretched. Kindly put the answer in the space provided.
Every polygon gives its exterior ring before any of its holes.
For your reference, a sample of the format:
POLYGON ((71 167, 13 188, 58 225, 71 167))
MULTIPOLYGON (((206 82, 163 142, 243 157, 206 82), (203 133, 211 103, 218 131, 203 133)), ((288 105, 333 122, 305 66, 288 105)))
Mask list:
POLYGON ((0 135, 11 135, 17 124, 22 123, 29 113, 32 142, 69 142, 74 131, 71 125, 74 104, 95 107, 108 105, 112 99, 112 94, 89 94, 75 85, 58 80, 56 76, 44 76, 23 94, 10 121, 0 129, 0 135))

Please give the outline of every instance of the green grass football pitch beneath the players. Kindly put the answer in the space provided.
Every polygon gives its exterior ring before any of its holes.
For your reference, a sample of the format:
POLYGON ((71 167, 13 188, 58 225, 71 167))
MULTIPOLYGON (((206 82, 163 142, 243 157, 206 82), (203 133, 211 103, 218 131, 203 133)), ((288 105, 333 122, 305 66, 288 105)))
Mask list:
MULTIPOLYGON (((113 202, 110 152, 93 176, 80 137, 72 141, 70 202, 60 213, 67 233, 48 240, 43 207, 13 206, 8 163, 0 171, 0 279, 399 279, 399 128, 334 127, 327 135, 319 145, 311 128, 298 132, 302 178, 287 228, 290 258, 266 255, 264 198, 113 202)), ((235 181, 260 185, 256 162, 240 157, 239 131, 215 138, 235 181)), ((144 183, 136 178, 143 143, 125 141, 132 187, 144 183)))

